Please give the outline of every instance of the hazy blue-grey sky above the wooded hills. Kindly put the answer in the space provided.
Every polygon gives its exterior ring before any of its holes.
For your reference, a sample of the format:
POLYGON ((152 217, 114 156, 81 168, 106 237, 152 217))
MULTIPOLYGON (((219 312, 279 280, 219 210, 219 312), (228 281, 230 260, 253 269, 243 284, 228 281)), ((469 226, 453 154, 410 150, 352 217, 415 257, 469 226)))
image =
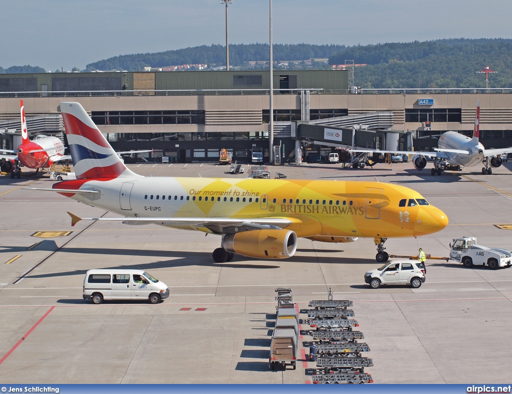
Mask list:
MULTIPOLYGON (((367 45, 512 38, 511 0, 273 0, 273 42, 367 45)), ((131 53, 225 45, 220 0, 0 0, 0 66, 48 71, 131 53)), ((269 0, 233 0, 229 42, 269 42, 269 0)), ((162 64, 167 65, 167 64, 162 64)))

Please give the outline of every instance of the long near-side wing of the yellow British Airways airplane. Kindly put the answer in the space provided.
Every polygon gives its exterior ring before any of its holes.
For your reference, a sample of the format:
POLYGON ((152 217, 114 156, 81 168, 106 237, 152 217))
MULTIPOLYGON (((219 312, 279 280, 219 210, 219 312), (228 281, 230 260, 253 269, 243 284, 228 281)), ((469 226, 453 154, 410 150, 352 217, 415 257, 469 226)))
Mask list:
POLYGON ((216 234, 235 232, 280 229, 297 220, 286 217, 78 217, 71 212, 71 226, 81 220, 114 221, 128 225, 160 224, 169 227, 200 227, 216 234))

